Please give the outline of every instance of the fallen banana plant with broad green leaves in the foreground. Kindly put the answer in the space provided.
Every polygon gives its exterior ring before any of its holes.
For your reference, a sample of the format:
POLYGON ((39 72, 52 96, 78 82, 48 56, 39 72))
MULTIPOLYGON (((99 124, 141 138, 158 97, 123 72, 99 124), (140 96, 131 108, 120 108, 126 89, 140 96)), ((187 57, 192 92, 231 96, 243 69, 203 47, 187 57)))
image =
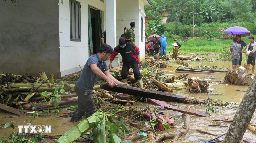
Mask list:
POLYGON ((68 143, 76 140, 80 136, 83 136, 88 130, 92 129, 92 132, 89 134, 88 138, 93 136, 94 142, 98 143, 120 143, 122 140, 115 134, 119 128, 130 132, 128 126, 123 122, 112 120, 119 125, 111 123, 108 121, 107 115, 105 112, 96 112, 92 116, 88 117, 86 120, 83 120, 81 123, 73 127, 67 133, 62 135, 56 143, 68 143), (109 137, 109 138, 108 138, 109 137))

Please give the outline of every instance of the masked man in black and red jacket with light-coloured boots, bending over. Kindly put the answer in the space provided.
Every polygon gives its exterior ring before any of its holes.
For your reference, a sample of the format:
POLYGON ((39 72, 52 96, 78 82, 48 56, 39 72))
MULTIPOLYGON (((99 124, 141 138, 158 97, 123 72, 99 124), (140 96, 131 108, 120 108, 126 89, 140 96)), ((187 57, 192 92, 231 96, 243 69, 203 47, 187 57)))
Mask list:
POLYGON ((123 37, 119 38, 118 43, 119 45, 115 47, 113 54, 110 56, 109 69, 112 68, 112 61, 115 59, 116 55, 120 53, 123 57, 123 72, 121 74, 123 82, 127 82, 129 69, 132 68, 135 79, 138 81, 140 88, 143 88, 142 77, 138 65, 142 64, 139 48, 134 45, 130 39, 125 39, 123 37))

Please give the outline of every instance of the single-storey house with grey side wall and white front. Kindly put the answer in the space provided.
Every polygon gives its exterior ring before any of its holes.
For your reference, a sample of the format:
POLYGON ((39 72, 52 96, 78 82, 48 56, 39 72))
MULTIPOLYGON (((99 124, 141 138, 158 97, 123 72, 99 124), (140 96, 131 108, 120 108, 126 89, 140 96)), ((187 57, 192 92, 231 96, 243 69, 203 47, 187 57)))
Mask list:
MULTIPOLYGON (((148 0, 0 1, 0 72, 60 77, 80 71, 98 53, 106 30, 114 48, 135 22, 135 44, 145 59, 145 12, 148 0)), ((121 62, 118 55, 113 66, 121 62)))

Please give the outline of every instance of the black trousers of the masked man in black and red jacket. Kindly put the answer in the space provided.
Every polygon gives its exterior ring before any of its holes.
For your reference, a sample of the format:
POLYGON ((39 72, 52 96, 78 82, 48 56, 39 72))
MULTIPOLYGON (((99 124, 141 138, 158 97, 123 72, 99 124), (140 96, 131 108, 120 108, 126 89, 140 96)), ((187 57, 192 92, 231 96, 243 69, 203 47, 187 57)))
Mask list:
POLYGON ((125 62, 123 63, 123 72, 121 74, 122 79, 127 78, 130 68, 132 68, 132 70, 133 70, 135 79, 140 80, 142 77, 141 77, 141 73, 140 73, 140 69, 139 69, 139 65, 138 65, 137 61, 132 62, 132 63, 125 63, 125 62))

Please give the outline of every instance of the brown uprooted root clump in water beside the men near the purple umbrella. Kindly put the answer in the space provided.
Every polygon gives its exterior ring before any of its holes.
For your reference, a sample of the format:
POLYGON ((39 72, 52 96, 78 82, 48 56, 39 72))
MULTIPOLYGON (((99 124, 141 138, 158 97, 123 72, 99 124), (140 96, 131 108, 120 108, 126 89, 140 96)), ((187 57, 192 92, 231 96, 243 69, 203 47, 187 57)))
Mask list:
POLYGON ((252 79, 252 74, 246 73, 246 69, 240 66, 238 69, 226 73, 223 81, 232 85, 248 86, 252 79))

